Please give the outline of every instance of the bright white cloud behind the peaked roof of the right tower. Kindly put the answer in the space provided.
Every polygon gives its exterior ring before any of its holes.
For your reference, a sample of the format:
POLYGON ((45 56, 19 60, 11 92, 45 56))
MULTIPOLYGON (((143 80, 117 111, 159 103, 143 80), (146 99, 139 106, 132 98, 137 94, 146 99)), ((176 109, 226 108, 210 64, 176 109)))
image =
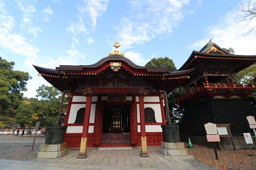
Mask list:
MULTIPOLYGON (((236 22, 238 15, 240 15, 239 11, 230 11, 220 20, 220 23, 207 28, 205 39, 196 41, 188 48, 200 50, 212 39, 221 48, 233 48, 235 54, 255 55, 256 36, 247 33, 250 25, 247 25, 246 21, 236 22)), ((256 25, 256 19, 251 20, 250 24, 256 25)))

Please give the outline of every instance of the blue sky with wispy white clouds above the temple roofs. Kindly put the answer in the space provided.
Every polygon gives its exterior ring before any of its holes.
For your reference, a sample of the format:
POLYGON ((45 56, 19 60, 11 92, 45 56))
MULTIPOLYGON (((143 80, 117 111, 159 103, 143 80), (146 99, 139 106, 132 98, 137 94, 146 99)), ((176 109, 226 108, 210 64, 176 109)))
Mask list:
POLYGON ((90 65, 108 56, 115 42, 141 66, 169 57, 179 69, 210 39, 235 54, 255 55, 256 36, 246 32, 256 19, 241 22, 239 2, 0 0, 0 56, 32 76, 24 96, 35 97, 39 86, 50 84, 32 65, 90 65))

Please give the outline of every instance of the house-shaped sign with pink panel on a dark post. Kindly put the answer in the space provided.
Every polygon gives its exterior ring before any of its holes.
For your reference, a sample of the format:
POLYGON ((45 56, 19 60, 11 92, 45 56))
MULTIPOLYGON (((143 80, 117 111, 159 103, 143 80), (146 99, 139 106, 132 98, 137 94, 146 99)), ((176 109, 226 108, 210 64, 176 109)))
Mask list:
POLYGON ((207 131, 207 142, 213 143, 216 159, 218 160, 218 152, 215 142, 220 142, 220 136, 217 134, 217 126, 212 122, 204 124, 204 128, 207 131))

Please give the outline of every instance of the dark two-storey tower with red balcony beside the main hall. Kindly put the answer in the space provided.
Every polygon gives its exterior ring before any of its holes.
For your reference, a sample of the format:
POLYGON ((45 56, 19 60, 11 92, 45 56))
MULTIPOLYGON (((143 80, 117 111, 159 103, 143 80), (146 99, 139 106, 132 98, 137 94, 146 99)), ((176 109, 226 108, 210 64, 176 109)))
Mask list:
MULTIPOLYGON (((179 99, 185 112, 180 124, 181 141, 208 146, 204 124, 230 124, 237 148, 243 148, 243 133, 253 134, 246 116, 256 117, 256 108, 245 98, 255 92, 253 83, 234 83, 233 76, 256 63, 256 56, 234 55, 209 41, 200 52, 193 51, 179 71, 195 68, 182 86, 187 95, 179 99)), ((233 148, 230 139, 221 139, 221 147, 233 148), (231 145, 231 146, 229 146, 231 145)))

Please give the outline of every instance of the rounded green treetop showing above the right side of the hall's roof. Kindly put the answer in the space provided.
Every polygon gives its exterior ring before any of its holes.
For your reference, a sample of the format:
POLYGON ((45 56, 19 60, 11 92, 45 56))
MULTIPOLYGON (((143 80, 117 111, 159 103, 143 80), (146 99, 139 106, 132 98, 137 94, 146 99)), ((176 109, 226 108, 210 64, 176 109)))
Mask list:
POLYGON ((170 59, 168 57, 164 57, 164 58, 160 57, 158 59, 152 58, 151 61, 146 63, 145 66, 146 67, 167 67, 168 69, 170 69, 172 71, 177 70, 172 59, 170 59))

